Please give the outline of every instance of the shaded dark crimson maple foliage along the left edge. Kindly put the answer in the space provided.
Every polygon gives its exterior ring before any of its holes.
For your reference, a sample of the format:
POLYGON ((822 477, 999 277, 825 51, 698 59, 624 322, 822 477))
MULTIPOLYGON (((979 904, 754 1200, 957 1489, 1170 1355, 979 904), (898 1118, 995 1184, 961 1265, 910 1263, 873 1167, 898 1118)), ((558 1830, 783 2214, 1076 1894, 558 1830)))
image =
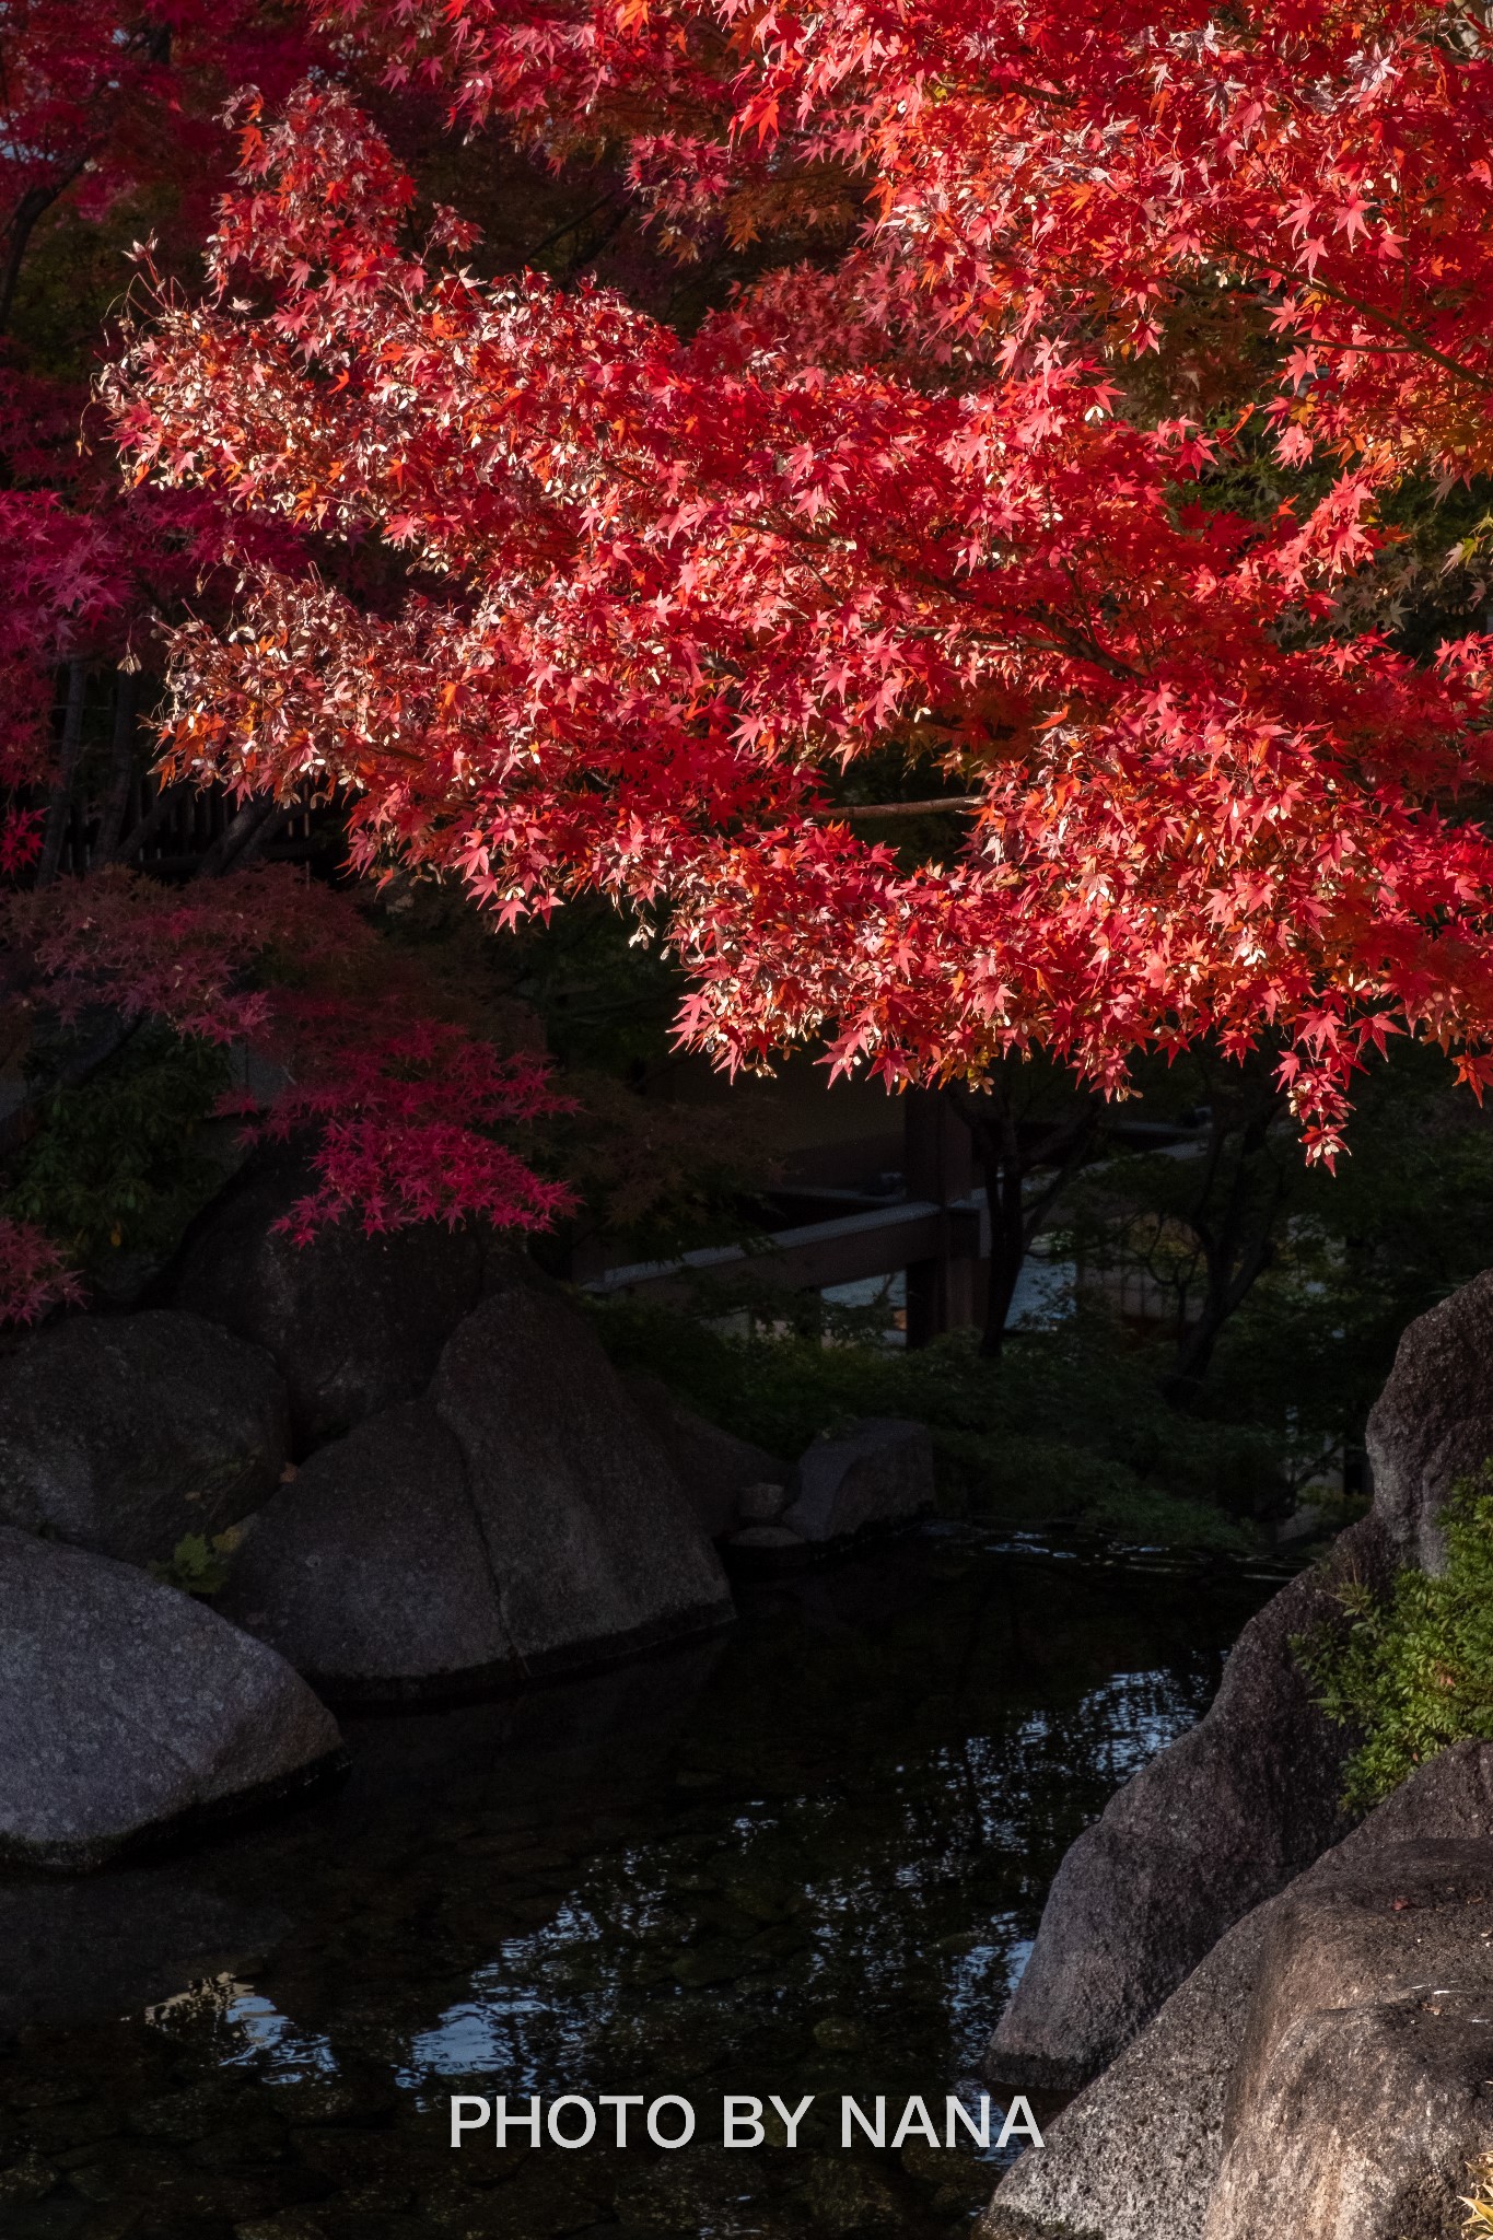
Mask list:
MULTIPOLYGON (((130 222, 154 224, 157 255, 190 271, 233 164, 224 101, 251 74, 287 94, 327 47, 278 0, 16 0, 0 60, 0 1010, 11 1044, 40 1026, 60 1051, 20 1104, 7 1100, 2 1147, 154 1024, 248 1042, 278 1068, 282 1091, 246 1120, 307 1138, 298 1234, 345 1214, 369 1230, 544 1225, 569 1194, 506 1142, 557 1107, 544 1066, 501 1060, 443 1015, 345 894, 289 867, 248 869, 273 831, 260 806, 228 820, 206 876, 161 885, 130 869, 172 800, 157 791, 137 809, 141 670, 163 618, 228 616, 242 540, 228 549, 210 495, 123 486, 87 374, 67 349, 49 363, 9 336, 58 220, 81 237, 112 224, 121 251, 130 222), (101 701, 103 768, 85 737, 101 701)), ((128 278, 119 253, 114 287, 128 278)), ((107 347, 103 329, 76 340, 107 347)), ((302 558, 284 531, 262 553, 302 558)), ((69 1241, 0 1205, 0 1322, 83 1295, 69 1241)))

